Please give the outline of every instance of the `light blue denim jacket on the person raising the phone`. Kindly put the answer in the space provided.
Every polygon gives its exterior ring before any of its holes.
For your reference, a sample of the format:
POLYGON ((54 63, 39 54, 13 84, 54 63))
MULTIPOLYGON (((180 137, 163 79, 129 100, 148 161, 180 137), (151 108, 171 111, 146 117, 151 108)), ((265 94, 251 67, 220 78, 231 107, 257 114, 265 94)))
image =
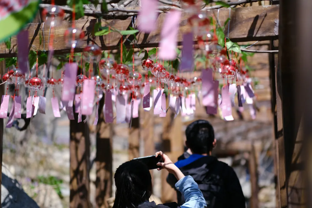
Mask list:
MULTIPOLYGON (((185 176, 181 178, 176 184, 175 187, 177 190, 181 191, 182 195, 185 198, 185 203, 181 208, 204 208, 206 201, 202 192, 199 190, 197 183, 194 181, 192 176, 185 176)), ((167 203, 156 205, 154 201, 145 202, 140 204, 138 208, 179 208, 177 203, 167 203)))

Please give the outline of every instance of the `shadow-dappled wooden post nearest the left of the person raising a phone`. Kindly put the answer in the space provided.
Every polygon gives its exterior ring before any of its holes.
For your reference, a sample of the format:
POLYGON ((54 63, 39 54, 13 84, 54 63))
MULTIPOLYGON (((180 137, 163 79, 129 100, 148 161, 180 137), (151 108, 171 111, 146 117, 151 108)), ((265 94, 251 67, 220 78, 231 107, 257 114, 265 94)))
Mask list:
POLYGON ((104 95, 99 102, 99 120, 96 125, 96 208, 107 208, 107 199, 112 196, 113 185, 113 128, 111 123, 105 123, 103 106, 104 95))

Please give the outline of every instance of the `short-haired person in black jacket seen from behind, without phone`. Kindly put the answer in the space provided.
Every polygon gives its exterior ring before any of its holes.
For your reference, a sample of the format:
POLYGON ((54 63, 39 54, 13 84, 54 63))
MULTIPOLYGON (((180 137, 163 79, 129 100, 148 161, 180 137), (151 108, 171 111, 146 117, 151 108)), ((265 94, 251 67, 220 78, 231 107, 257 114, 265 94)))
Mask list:
MULTIPOLYGON (((197 120, 185 130, 186 147, 175 165, 186 176, 192 176, 205 198, 207 208, 244 208, 245 197, 232 167, 212 156, 216 146, 214 130, 206 120, 197 120), (188 153, 188 154, 187 154, 188 153)), ((176 179, 169 173, 167 182, 174 188, 176 179)), ((185 198, 177 191, 178 205, 185 198)))

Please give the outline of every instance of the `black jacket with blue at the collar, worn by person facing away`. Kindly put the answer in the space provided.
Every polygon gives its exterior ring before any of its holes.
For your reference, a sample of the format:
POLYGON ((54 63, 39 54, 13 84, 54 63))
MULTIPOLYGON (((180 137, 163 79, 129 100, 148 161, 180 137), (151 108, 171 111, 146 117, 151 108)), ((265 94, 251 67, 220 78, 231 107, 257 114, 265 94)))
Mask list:
MULTIPOLYGON (((180 156, 179 158, 183 158, 180 156)), ((206 200, 207 208, 244 208, 245 197, 233 168, 218 161, 216 157, 191 155, 175 163, 184 175, 190 175, 197 182, 206 200)), ((177 179, 169 174, 167 182, 174 188, 177 179)), ((178 205, 184 203, 179 191, 178 205)))

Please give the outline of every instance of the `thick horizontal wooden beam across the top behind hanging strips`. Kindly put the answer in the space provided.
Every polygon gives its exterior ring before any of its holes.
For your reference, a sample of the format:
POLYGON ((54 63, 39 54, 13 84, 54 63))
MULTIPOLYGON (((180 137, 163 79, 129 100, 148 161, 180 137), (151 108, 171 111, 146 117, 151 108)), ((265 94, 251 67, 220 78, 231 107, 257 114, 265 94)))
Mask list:
MULTIPOLYGON (((231 9, 231 21, 229 27, 228 37, 235 42, 245 42, 245 41, 263 41, 263 40, 271 40, 277 39, 278 36, 278 19, 279 19, 279 5, 271 5, 271 6, 258 6, 258 7, 239 7, 231 9)), ((211 10, 207 11, 208 16, 215 15, 218 18, 218 22, 220 25, 224 25, 224 22, 229 17, 229 9, 222 8, 219 10, 211 10)), ((139 32, 136 35, 137 45, 135 47, 147 48, 147 47, 156 47, 160 41, 160 31, 163 26, 165 14, 160 14, 157 19, 157 29, 150 34, 144 34, 143 32, 139 32)), ((181 45, 183 33, 190 31, 191 27, 188 24, 188 14, 183 13, 182 19, 180 21, 180 28, 178 32, 178 44, 181 45)), ((84 48, 92 37, 93 28, 97 19, 87 19, 87 20, 76 20, 75 27, 82 29, 86 33, 86 38, 84 48)), ((139 22, 139 18, 137 20, 139 22)), ((129 17, 126 20, 101 20, 101 25, 110 26, 111 28, 117 30, 127 30, 129 27, 132 27, 132 17, 129 17)), ((49 31, 50 27, 48 25, 44 25, 44 32, 42 33, 43 23, 31 23, 28 25, 29 30, 29 42, 33 46, 32 50, 47 50, 48 39, 49 39, 49 31), (42 38, 42 44, 39 45, 39 33, 42 34, 44 40, 42 38), (45 44, 45 48, 43 48, 43 42, 45 44), (35 49, 34 49, 35 48, 35 49)), ((64 41, 64 33, 68 27, 72 26, 71 21, 63 21, 63 24, 59 27, 55 27, 54 31, 54 50, 55 53, 69 53, 70 50, 66 48, 66 44, 64 41)), ((225 34, 227 35, 227 28, 225 28, 225 34)), ((118 32, 111 32, 105 36, 95 37, 95 43, 101 46, 102 50, 113 50, 118 49, 120 45, 121 35, 118 32)), ((124 43, 127 47, 129 46, 129 41, 125 40, 126 36, 124 36, 124 43)), ((133 36, 127 37, 130 41, 133 40, 133 36)), ((0 44, 0 57, 12 57, 16 56, 16 37, 12 37, 12 48, 7 50, 5 44, 0 44)), ((76 52, 82 51, 82 48, 77 48, 76 52)))

